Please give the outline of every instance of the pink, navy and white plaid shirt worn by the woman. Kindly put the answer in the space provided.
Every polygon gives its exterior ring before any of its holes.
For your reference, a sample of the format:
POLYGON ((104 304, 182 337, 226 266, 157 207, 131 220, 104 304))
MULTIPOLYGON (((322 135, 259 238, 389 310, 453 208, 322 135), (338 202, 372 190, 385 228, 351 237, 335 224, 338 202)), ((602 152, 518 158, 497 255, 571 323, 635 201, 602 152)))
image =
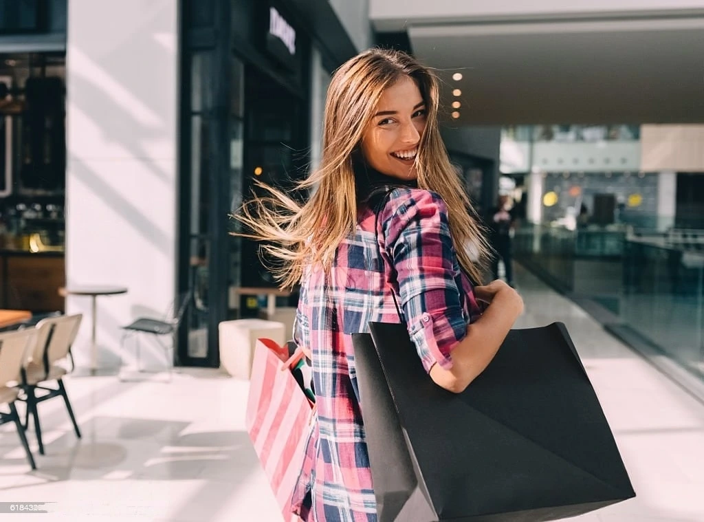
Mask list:
POLYGON ((453 347, 480 313, 437 194, 394 189, 376 225, 373 209, 361 211, 330 273, 313 267, 301 284, 295 337, 312 352, 318 406, 294 490, 293 509, 303 520, 377 521, 351 334, 367 332, 370 321, 398 323, 389 285, 426 371, 435 363, 451 368, 453 347))

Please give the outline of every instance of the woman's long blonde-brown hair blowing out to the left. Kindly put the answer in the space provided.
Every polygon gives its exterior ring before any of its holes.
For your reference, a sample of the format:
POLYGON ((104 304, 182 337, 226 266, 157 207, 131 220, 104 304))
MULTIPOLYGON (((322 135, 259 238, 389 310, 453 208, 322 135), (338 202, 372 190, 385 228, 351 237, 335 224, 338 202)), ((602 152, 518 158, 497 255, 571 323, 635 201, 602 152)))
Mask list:
POLYGON ((344 63, 332 77, 320 166, 297 185, 299 190, 313 189, 308 201, 301 203, 258 183, 268 197, 254 197, 234 216, 249 228, 237 235, 265 242, 264 251, 281 261, 273 272, 282 287, 298 284, 311 264, 329 270, 340 242, 354 235, 358 210, 354 158, 382 92, 404 76, 415 80, 427 111, 416 156, 417 186, 445 201, 458 261, 474 281, 482 281, 489 247, 440 137, 439 82, 408 54, 370 49, 344 63))

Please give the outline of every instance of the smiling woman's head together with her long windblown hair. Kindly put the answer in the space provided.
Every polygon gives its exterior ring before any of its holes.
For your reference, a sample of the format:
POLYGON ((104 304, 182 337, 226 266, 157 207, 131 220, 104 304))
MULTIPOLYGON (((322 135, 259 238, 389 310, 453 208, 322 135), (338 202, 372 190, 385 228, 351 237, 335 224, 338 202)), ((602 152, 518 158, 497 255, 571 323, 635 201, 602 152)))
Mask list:
POLYGON ((327 92, 320 167, 298 189, 315 191, 301 205, 274 187, 271 197, 246 202, 236 216, 251 237, 284 263, 272 267, 282 287, 298 285, 306 267, 329 269, 339 244, 354 233, 358 210, 378 185, 415 182, 439 194, 449 210, 449 232, 460 265, 474 280, 486 259, 486 242, 438 128, 439 83, 407 54, 372 49, 344 63, 327 92), (379 174, 379 176, 377 176, 379 174))

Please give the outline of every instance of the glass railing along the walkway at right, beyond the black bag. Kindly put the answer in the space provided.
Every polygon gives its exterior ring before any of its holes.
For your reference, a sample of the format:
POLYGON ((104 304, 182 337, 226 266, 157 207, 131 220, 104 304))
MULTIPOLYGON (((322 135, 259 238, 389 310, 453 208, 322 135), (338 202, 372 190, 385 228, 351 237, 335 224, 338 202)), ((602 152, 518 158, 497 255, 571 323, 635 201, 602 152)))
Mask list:
POLYGON ((514 251, 543 280, 610 311, 615 323, 704 378, 704 227, 529 223, 516 231, 514 251))

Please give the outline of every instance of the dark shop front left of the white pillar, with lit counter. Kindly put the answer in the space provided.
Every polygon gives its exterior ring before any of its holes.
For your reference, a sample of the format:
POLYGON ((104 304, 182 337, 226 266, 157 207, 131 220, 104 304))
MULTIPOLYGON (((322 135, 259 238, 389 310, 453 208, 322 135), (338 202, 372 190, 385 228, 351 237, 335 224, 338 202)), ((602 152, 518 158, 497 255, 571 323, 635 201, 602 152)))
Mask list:
POLYGON ((65 0, 0 0, 0 308, 63 310, 65 0))

